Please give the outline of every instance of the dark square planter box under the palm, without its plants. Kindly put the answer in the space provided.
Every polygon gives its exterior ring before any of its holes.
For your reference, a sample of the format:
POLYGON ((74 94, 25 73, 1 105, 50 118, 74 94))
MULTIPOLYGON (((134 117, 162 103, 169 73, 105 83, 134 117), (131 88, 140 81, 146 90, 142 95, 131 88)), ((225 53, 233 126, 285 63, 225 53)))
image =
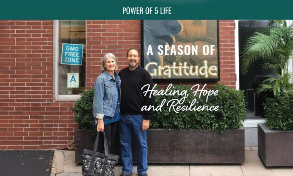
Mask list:
POLYGON ((293 166, 293 131, 271 130, 259 123, 258 155, 267 167, 293 166))

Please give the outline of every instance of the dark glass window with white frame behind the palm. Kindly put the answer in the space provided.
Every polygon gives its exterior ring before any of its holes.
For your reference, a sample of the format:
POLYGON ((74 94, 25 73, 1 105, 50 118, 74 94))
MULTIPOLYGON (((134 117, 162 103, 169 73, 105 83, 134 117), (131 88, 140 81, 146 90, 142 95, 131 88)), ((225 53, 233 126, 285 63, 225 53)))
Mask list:
MULTIPOLYGON (((243 123, 245 128, 256 128, 258 123, 263 123, 263 95, 255 94, 258 84, 266 77, 272 77, 271 70, 263 70, 258 63, 254 63, 249 74, 241 74, 241 51, 247 38, 251 33, 267 28, 268 20, 235 20, 235 68, 236 68, 236 89, 244 90, 247 104, 246 120, 243 123), (240 54, 239 54, 240 53, 240 54)), ((287 21, 292 24, 292 20, 287 21)), ((292 60, 288 63, 288 70, 292 72, 292 60)))

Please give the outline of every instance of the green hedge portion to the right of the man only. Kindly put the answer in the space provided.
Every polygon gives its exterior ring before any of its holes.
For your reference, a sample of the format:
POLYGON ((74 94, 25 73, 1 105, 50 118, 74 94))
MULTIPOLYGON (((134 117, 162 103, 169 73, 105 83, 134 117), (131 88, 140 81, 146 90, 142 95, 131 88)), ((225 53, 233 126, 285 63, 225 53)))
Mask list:
MULTIPOLYGON (((169 111, 169 106, 163 106, 162 112, 155 111, 151 120, 151 128, 167 129, 220 129, 239 128, 245 119, 246 104, 242 91, 232 89, 228 86, 216 84, 213 90, 218 90, 217 96, 210 96, 208 102, 206 97, 193 97, 193 91, 189 86, 174 85, 176 90, 188 90, 188 98, 185 103, 194 98, 199 101, 198 105, 219 105, 218 111, 169 111)), ((172 90, 173 90, 172 89, 172 90)), ((158 106, 163 99, 180 99, 182 96, 156 96, 155 106, 158 106)))

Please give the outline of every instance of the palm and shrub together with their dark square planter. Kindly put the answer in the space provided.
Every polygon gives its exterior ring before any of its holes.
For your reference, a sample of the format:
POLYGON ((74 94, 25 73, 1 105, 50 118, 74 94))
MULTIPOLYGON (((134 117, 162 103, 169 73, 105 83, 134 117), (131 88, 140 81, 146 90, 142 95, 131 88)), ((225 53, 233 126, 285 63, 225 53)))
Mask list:
POLYGON ((288 61, 293 53, 293 26, 286 20, 272 20, 268 31, 253 33, 243 53, 243 69, 255 60, 275 70, 276 77, 265 79, 258 92, 272 92, 264 106, 265 123, 258 124, 258 155, 265 166, 293 166, 292 75, 288 61))

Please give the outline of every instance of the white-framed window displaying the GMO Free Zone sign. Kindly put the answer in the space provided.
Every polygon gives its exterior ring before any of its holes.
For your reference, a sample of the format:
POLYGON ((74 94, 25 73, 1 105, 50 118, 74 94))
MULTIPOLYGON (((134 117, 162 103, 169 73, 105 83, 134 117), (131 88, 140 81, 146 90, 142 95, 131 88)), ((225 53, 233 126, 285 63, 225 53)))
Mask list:
POLYGON ((56 99, 78 99, 86 89, 86 21, 55 20, 56 99))

